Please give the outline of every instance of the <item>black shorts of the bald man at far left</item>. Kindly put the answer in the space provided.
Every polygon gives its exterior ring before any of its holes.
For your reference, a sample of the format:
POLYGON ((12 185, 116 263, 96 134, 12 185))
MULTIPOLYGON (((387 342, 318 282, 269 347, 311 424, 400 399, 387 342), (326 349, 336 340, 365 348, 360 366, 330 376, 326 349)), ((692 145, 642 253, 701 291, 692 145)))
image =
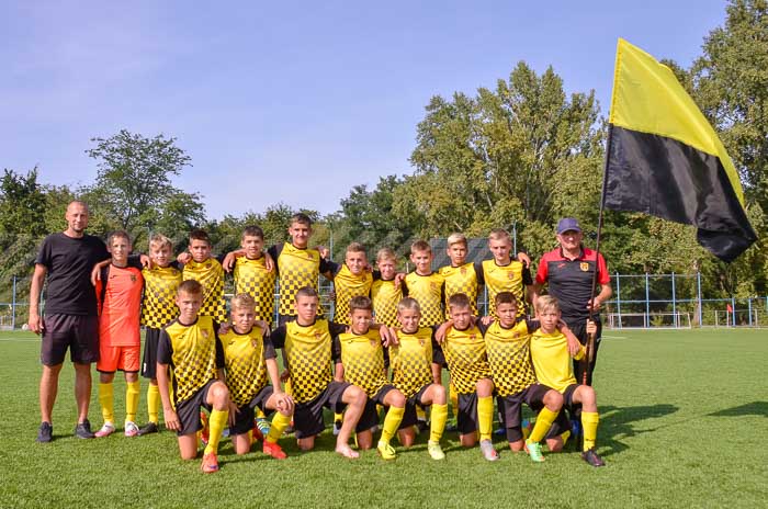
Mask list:
POLYGON ((76 364, 99 360, 99 317, 86 315, 45 315, 39 361, 53 366, 69 358, 76 364))

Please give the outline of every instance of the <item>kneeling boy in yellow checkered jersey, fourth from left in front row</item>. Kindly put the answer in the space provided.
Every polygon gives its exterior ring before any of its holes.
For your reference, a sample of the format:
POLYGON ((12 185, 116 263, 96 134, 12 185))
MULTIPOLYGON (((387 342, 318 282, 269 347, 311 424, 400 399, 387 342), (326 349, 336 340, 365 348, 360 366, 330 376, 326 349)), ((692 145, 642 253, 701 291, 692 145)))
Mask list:
POLYGON ((349 319, 351 331, 340 333, 334 340, 336 380, 361 387, 369 397, 357 427, 360 449, 371 449, 373 444, 371 429, 379 425, 376 405, 388 407, 376 450, 383 460, 394 460, 397 454, 389 441, 403 420, 405 396, 386 378, 382 338, 377 330, 371 328, 371 299, 352 297, 349 301, 349 319))

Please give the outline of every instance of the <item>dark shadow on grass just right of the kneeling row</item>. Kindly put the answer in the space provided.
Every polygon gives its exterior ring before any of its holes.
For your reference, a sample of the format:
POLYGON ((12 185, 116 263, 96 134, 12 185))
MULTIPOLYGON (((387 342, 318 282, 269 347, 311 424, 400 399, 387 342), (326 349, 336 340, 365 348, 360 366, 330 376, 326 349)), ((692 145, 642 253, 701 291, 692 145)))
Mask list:
POLYGON ((658 428, 636 429, 634 423, 645 419, 665 417, 675 414, 679 408, 675 405, 660 404, 637 407, 600 406, 600 427, 597 441, 601 449, 600 454, 611 456, 629 449, 623 439, 637 434, 656 431, 658 428), (606 451, 606 449, 608 449, 606 451))

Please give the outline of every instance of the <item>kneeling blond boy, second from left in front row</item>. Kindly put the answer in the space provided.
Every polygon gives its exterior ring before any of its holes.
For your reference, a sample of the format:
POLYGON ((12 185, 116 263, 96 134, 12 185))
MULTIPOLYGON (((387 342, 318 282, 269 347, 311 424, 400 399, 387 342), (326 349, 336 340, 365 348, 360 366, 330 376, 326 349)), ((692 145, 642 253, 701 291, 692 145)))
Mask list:
POLYGON ((286 457, 278 439, 291 423, 293 399, 283 393, 275 361, 274 347, 261 330, 253 327, 256 302, 241 293, 233 297, 231 329, 219 335, 224 350, 226 382, 231 395, 229 434, 237 454, 250 451, 256 408, 264 412, 278 410, 272 419, 262 451, 278 460, 286 457), (267 384, 267 377, 272 385, 267 384))

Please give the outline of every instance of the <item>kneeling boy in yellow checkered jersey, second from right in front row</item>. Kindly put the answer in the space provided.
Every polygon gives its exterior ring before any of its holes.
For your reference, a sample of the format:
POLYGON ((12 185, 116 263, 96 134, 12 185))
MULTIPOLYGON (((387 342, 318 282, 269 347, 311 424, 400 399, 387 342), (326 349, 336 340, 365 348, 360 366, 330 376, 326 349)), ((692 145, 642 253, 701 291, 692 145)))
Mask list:
POLYGON ((521 451, 524 446, 531 460, 543 462, 544 456, 539 442, 563 407, 563 395, 537 383, 529 344, 530 333, 539 328, 539 324, 522 317, 517 318, 517 298, 511 292, 497 294, 495 304, 498 320, 490 324, 484 336, 509 448, 512 451, 521 451), (523 441, 520 425, 523 401, 533 410, 541 408, 527 441, 523 441))

